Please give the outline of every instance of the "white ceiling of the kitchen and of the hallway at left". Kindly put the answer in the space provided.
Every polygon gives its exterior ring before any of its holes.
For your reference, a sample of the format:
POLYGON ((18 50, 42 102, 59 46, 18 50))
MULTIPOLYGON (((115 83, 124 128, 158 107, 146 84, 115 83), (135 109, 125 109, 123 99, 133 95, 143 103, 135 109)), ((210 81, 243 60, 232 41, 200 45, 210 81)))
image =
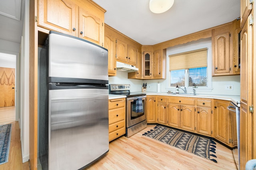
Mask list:
MULTIPOLYGON (((24 2, 0 1, 0 39, 20 43, 24 2)), ((94 2, 106 10, 105 23, 142 45, 168 41, 240 16, 240 0, 175 0, 172 8, 162 14, 150 12, 149 0, 94 2)))

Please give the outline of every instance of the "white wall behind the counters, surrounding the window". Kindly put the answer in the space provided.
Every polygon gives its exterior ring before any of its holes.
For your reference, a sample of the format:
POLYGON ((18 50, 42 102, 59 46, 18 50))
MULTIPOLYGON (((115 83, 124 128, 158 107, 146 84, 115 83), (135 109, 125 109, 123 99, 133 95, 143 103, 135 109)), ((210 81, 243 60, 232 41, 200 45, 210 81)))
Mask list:
POLYGON ((117 71, 117 76, 109 77, 109 83, 122 84, 123 82, 131 84, 131 92, 140 92, 143 83, 147 83, 147 92, 156 92, 157 83, 161 84, 161 92, 167 92, 168 90, 174 91, 175 88, 168 88, 169 84, 169 59, 168 56, 172 54, 182 53, 185 51, 192 51, 195 49, 208 48, 208 78, 212 79, 210 90, 196 89, 197 94, 218 94, 218 95, 236 95, 240 96, 240 76, 214 76, 212 77, 212 40, 211 38, 200 39, 198 41, 192 41, 190 43, 176 45, 166 50, 166 80, 133 80, 127 79, 128 73, 117 71), (225 90, 225 85, 233 85, 233 90, 225 90))

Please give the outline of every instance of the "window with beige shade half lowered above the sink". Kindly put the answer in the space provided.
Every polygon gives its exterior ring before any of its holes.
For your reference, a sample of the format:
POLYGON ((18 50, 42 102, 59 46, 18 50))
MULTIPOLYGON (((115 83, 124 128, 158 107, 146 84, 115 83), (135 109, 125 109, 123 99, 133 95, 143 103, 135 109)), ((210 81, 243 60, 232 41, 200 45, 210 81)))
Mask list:
POLYGON ((207 87, 207 48, 169 55, 170 86, 207 87))

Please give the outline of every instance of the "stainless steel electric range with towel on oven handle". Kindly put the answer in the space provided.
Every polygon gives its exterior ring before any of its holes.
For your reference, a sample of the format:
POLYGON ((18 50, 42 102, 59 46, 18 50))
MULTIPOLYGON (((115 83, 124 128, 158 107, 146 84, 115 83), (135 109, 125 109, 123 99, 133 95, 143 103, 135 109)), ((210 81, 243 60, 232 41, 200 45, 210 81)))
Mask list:
POLYGON ((109 84, 109 94, 126 96, 126 137, 147 127, 146 94, 131 93, 130 84, 109 84))

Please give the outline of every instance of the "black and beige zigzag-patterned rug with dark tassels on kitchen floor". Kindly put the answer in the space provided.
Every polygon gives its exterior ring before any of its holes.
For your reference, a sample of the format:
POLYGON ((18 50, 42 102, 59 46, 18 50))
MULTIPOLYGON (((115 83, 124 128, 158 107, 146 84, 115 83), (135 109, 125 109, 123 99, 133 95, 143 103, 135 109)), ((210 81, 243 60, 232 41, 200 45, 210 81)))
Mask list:
POLYGON ((154 130, 150 130, 142 135, 156 139, 178 149, 186 150, 187 152, 217 163, 216 159, 214 159, 216 158, 216 155, 210 154, 210 152, 216 153, 216 143, 211 139, 177 131, 160 125, 154 127, 154 130))

